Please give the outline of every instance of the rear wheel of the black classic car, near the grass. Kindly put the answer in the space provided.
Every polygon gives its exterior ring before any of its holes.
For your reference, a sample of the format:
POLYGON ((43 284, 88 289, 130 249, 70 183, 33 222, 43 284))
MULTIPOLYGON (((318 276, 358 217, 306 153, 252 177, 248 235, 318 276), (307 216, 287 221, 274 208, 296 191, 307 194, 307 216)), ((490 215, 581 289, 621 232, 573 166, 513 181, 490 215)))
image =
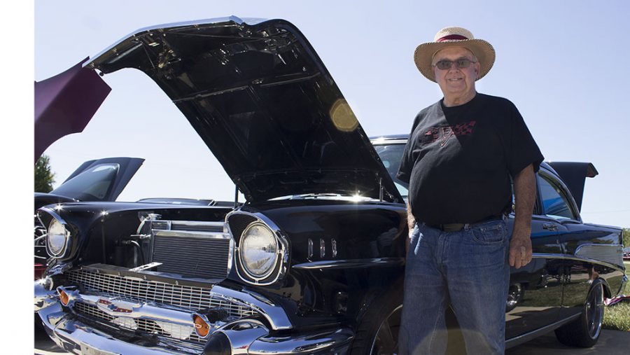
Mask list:
POLYGON ((592 347, 601 333, 604 303, 603 284, 591 287, 580 318, 556 329, 559 342, 573 347, 592 347))

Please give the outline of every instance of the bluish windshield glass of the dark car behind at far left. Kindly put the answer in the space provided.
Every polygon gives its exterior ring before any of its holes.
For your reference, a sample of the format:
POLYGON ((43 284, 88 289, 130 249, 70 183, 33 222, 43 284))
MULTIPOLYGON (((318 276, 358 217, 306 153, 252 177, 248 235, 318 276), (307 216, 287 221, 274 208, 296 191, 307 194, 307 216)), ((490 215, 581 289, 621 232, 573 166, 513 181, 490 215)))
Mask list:
POLYGON ((51 193, 80 201, 102 201, 109 193, 119 168, 116 163, 96 165, 62 183, 51 193))

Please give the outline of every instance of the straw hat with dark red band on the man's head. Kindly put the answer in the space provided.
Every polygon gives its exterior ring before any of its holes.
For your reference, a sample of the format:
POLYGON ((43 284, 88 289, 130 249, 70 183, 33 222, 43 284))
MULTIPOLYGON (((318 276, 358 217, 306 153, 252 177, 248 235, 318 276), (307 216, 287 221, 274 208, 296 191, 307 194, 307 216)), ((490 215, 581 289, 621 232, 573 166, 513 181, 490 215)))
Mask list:
POLYGON ((433 68, 431 68, 433 55, 447 47, 463 47, 475 54, 481 65, 477 80, 488 74, 494 64, 495 53, 490 43, 483 39, 475 39, 472 33, 463 27, 446 27, 435 34, 433 42, 422 43, 414 53, 416 67, 428 80, 435 82, 433 68))

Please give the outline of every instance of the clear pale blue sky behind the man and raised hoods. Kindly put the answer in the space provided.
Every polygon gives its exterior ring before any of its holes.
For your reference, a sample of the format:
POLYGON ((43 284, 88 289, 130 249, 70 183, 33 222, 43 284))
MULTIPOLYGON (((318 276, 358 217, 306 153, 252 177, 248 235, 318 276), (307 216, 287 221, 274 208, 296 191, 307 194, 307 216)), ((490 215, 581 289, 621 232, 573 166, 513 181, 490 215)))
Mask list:
MULTIPOLYGON (((34 80, 141 27, 229 15, 283 18, 310 41, 370 136, 409 132, 417 111, 442 97, 414 66, 414 49, 442 27, 466 27, 497 52, 477 90, 517 105, 545 160, 593 162, 598 169, 585 187, 584 221, 630 227, 628 1, 91 4, 34 2, 34 80)), ((146 158, 145 165, 119 200, 233 199, 221 165, 155 83, 132 69, 104 80, 112 92, 85 131, 45 152, 57 183, 85 160, 134 156, 146 158)))

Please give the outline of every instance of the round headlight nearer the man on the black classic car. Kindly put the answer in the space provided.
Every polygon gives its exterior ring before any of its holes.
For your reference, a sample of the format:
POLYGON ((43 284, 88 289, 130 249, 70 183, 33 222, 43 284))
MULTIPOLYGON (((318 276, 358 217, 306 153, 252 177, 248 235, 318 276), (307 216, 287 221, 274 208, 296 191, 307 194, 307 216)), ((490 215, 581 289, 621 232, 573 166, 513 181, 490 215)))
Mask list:
POLYGON ((278 262, 278 241, 274 232, 262 223, 249 225, 241 237, 239 258, 249 277, 268 277, 278 262))

